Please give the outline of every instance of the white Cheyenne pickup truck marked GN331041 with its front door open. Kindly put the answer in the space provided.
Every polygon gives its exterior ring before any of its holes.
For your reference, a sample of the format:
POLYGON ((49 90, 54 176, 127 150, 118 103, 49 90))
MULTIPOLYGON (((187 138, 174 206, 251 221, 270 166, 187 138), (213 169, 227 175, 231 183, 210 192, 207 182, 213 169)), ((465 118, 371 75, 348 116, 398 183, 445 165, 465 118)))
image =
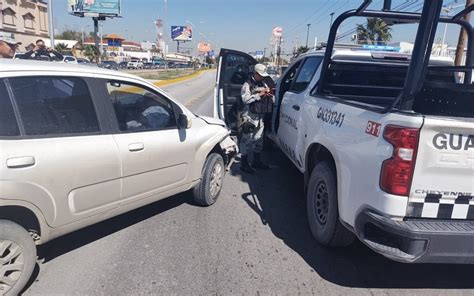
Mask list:
MULTIPOLYGON (((304 174, 316 240, 357 237, 400 262, 474 263, 473 85, 446 71, 451 59, 428 56, 410 108, 398 107, 411 55, 328 50, 327 63, 325 52, 300 56, 279 80, 269 134, 304 174)), ((220 57, 215 113, 236 128, 230 78, 256 61, 220 57)))

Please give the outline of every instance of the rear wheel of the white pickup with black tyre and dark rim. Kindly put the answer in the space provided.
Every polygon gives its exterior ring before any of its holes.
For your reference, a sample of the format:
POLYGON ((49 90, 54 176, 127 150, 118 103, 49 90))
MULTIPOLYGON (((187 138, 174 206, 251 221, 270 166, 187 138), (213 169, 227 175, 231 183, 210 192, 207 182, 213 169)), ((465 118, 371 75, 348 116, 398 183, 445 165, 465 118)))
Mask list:
POLYGON ((337 178, 328 162, 317 164, 308 183, 307 211, 314 238, 328 247, 346 247, 354 234, 339 221, 337 178))

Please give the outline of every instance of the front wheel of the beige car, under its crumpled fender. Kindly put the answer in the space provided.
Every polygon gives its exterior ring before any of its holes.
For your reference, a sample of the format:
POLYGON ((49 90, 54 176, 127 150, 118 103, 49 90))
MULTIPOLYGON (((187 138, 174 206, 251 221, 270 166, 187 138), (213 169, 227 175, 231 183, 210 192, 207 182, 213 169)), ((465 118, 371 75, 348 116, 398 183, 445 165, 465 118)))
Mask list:
POLYGON ((193 189, 194 201, 201 206, 213 205, 222 191, 225 164, 222 156, 210 154, 202 169, 201 182, 193 189))

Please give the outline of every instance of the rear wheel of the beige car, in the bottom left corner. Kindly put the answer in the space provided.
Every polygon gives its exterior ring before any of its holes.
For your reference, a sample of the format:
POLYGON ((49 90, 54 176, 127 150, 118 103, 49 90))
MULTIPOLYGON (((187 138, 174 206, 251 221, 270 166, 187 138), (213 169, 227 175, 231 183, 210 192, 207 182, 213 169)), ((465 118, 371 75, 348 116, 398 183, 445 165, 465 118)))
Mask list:
POLYGON ((0 294, 18 295, 36 265, 36 246, 16 223, 0 220, 0 294))

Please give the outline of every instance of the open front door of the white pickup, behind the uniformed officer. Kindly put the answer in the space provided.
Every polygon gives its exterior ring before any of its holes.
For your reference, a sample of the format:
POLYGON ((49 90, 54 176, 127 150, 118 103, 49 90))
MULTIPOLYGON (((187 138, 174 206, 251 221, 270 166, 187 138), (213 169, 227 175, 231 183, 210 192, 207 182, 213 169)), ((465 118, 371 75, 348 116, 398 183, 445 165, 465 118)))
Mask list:
POLYGON ((257 61, 250 55, 231 49, 221 49, 214 91, 214 117, 220 118, 237 131, 238 101, 242 85, 247 81, 251 66, 257 61))

